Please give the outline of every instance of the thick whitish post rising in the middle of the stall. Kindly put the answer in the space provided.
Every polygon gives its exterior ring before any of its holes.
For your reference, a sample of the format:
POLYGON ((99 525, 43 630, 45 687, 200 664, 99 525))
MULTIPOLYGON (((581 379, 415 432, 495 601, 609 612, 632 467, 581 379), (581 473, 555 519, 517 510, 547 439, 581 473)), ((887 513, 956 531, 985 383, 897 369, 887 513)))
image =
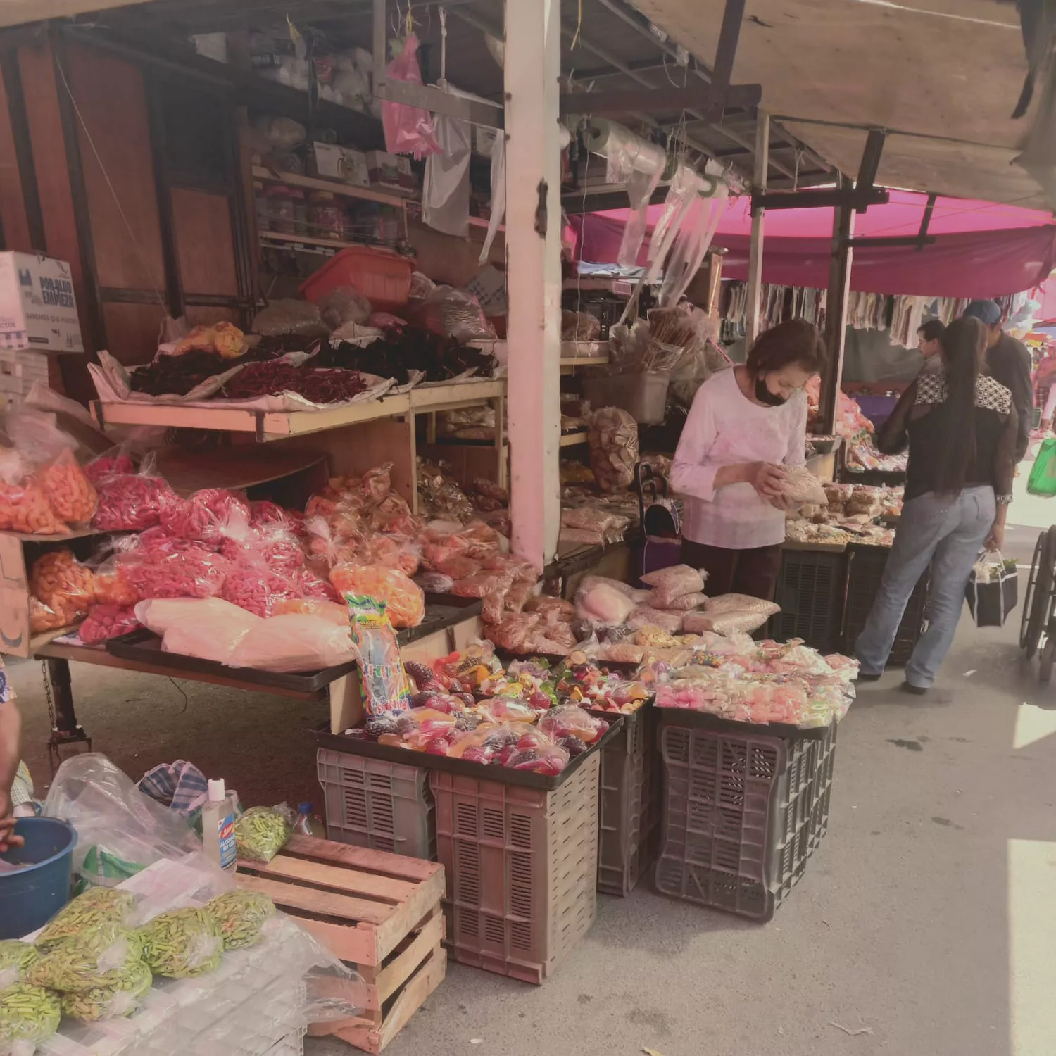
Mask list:
POLYGON ((510 514, 542 568, 561 530, 560 0, 507 0, 506 40, 510 514))

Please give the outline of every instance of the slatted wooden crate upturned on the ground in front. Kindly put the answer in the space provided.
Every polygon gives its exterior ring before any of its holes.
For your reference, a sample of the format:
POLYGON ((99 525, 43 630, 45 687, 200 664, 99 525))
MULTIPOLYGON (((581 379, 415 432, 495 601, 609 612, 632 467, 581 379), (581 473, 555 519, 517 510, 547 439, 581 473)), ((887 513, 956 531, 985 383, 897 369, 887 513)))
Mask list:
POLYGON ((447 972, 444 866, 295 835, 267 865, 239 862, 239 886, 260 891, 362 976, 362 1016, 313 1035, 379 1053, 447 972))

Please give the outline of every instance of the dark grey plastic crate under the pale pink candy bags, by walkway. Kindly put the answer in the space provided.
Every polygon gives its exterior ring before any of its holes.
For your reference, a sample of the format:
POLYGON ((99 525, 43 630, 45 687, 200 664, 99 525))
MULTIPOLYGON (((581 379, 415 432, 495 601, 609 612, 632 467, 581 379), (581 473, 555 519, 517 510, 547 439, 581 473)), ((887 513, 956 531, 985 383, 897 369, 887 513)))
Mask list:
POLYGON ((661 894, 770 920, 828 830, 836 728, 716 733, 664 715, 661 894))

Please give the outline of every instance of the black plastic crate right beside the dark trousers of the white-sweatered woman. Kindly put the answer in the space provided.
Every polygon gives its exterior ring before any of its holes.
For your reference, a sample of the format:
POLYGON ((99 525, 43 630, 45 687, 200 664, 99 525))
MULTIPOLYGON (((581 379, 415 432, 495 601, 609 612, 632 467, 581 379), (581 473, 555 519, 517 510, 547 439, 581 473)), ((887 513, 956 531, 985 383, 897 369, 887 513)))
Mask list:
POLYGON ((821 653, 840 644, 846 559, 842 552, 784 550, 774 601, 781 610, 767 634, 778 642, 802 638, 821 653))

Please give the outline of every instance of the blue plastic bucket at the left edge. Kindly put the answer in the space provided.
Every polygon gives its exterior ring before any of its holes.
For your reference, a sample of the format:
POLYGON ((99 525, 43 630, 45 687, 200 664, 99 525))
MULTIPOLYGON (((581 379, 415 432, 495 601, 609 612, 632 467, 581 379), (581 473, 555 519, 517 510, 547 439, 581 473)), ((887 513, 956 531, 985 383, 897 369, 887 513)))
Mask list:
POLYGON ((0 939, 20 939, 43 927, 69 901, 73 882, 73 826, 54 817, 20 817, 16 835, 0 860, 26 868, 0 872, 0 939))

